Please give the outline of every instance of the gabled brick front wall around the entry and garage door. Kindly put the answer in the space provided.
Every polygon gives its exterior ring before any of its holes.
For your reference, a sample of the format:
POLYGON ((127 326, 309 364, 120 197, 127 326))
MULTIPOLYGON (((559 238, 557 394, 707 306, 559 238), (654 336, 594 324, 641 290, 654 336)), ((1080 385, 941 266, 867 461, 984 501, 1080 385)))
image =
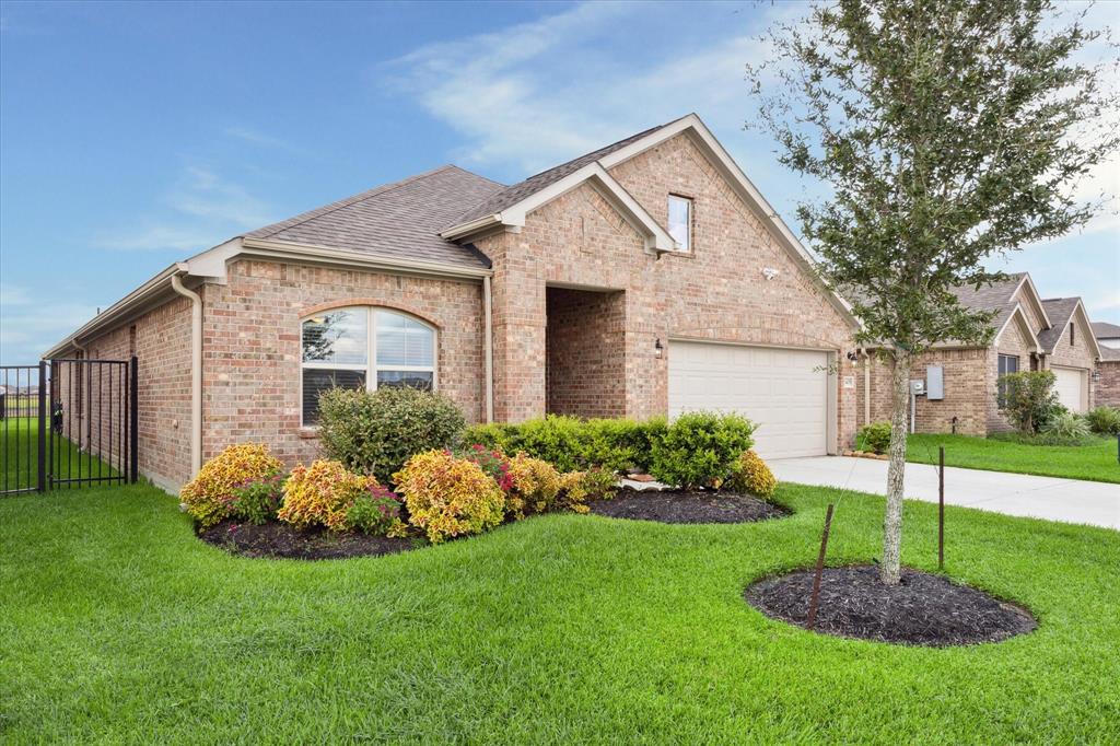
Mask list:
MULTIPOLYGON (((825 349, 851 329, 687 136, 619 164, 618 181, 664 224, 670 193, 694 205, 693 251, 660 259, 590 186, 529 215, 519 233, 476 241, 494 261, 495 407, 500 420, 548 407, 545 285, 625 290, 626 414, 668 410, 670 337, 825 349), (778 270, 774 280, 763 268, 778 270), (656 356, 661 339, 665 354, 656 356)), ((839 440, 855 433, 856 389, 837 386, 839 440)))

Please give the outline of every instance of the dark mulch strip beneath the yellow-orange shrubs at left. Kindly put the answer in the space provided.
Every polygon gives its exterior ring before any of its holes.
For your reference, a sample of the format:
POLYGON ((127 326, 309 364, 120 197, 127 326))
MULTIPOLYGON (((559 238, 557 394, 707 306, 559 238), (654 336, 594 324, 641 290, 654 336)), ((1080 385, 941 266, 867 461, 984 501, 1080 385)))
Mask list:
POLYGON ((426 547, 422 539, 390 539, 364 533, 337 533, 323 529, 300 531, 287 523, 237 523, 222 521, 198 532, 206 543, 243 557, 290 559, 344 559, 377 557, 426 547))

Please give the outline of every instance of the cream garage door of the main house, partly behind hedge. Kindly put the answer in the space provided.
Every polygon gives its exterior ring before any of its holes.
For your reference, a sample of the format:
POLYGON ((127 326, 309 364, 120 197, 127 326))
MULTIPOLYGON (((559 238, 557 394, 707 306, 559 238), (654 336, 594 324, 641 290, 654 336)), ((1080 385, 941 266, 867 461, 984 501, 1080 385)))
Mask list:
POLYGON ((828 354, 698 342, 669 346, 669 417, 700 409, 758 425, 763 458, 828 451, 828 354))

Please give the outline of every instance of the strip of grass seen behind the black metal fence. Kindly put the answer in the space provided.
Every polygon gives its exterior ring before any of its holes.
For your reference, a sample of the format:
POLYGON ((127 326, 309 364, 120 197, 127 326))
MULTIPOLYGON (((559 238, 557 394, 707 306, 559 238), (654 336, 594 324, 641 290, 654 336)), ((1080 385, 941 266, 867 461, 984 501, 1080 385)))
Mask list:
MULTIPOLYGON (((34 488, 38 484, 39 420, 12 417, 0 420, 0 491, 34 488)), ((104 477, 120 473, 96 456, 82 453, 74 442, 50 432, 54 441, 48 474, 57 478, 104 477)))

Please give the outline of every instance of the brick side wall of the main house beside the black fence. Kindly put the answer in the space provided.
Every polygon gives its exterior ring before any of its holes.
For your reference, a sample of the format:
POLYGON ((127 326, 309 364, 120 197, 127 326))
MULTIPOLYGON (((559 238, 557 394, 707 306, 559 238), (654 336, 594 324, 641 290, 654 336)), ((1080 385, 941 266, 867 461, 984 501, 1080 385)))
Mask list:
MULTIPOLYGON (((86 357, 128 360, 133 344, 139 365, 139 470, 160 486, 175 489, 190 478, 190 301, 175 297, 131 324, 91 341, 86 357), (133 325, 134 343, 130 330, 133 325)), ((109 373, 104 376, 108 382, 109 373)), ((68 391, 68 381, 62 384, 68 391)), ((90 401, 97 400, 94 386, 90 401)), ((110 428, 115 432, 116 422, 118 418, 110 418, 108 412, 101 419, 95 413, 93 422, 84 427, 86 432, 90 428, 100 431, 101 442, 110 442, 115 440, 110 437, 110 428)), ((96 435, 93 442, 97 442, 96 435)), ((115 453, 105 455, 114 461, 119 458, 115 453)))

